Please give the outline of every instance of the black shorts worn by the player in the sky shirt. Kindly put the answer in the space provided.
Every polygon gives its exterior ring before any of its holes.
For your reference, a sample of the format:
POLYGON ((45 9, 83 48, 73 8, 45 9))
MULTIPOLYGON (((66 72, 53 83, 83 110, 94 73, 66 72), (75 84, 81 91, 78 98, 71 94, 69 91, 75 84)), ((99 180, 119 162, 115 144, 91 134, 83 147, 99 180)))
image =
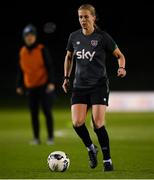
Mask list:
POLYGON ((91 89, 74 88, 71 97, 71 105, 87 104, 88 106, 102 104, 108 106, 109 88, 107 84, 91 89))

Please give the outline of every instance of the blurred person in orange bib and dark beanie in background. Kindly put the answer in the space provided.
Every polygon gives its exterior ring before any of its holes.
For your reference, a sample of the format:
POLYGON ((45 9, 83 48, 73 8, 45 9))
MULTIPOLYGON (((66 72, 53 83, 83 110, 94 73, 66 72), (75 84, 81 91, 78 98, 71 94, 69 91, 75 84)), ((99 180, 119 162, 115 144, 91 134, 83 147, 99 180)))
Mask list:
POLYGON ((49 145, 53 144, 53 117, 51 114, 52 93, 55 89, 53 61, 47 48, 37 42, 35 26, 27 25, 23 30, 25 45, 19 53, 17 89, 23 94, 25 87, 29 99, 32 127, 34 133, 33 145, 40 144, 39 106, 42 106, 46 117, 49 145), (51 97, 51 98, 50 98, 51 97))

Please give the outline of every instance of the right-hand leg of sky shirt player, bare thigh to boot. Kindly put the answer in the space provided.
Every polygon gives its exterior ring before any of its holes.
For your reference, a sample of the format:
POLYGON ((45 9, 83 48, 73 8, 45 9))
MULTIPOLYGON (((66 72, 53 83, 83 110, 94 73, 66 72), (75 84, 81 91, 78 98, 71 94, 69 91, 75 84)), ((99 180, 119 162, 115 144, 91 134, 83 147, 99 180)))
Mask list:
POLYGON ((92 106, 94 130, 98 137, 98 141, 104 157, 104 171, 111 171, 113 170, 113 165, 110 156, 109 136, 105 128, 105 112, 106 105, 92 106))

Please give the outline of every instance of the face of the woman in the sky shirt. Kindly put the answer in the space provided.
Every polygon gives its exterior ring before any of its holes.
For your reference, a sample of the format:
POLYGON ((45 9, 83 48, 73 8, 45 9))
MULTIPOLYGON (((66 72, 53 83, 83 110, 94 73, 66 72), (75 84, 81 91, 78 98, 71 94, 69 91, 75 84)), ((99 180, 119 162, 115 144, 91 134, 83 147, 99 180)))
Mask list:
POLYGON ((79 22, 83 29, 89 29, 94 26, 96 17, 89 10, 78 11, 79 22))

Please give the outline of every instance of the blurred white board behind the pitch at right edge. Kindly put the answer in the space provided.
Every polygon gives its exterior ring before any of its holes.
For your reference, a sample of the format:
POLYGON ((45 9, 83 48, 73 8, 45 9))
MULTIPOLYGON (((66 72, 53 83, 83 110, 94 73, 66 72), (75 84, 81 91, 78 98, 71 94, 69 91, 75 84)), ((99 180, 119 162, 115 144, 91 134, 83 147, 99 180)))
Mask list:
POLYGON ((111 92, 108 111, 154 112, 154 91, 111 92))

